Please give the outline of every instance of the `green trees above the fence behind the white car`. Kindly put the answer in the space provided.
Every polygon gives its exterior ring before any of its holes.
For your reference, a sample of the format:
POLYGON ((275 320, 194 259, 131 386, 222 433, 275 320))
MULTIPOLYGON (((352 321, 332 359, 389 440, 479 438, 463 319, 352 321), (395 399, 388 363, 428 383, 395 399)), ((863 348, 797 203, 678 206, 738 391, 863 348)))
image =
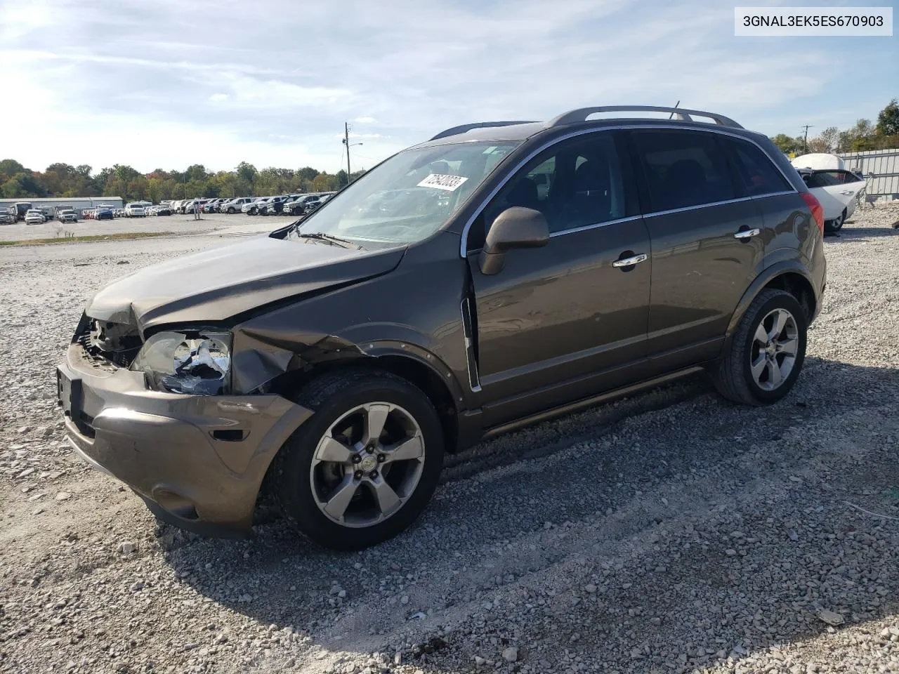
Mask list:
POLYGON ((817 136, 788 136, 779 133, 771 137, 774 145, 785 154, 805 155, 808 152, 844 153, 865 150, 899 148, 899 103, 893 99, 877 115, 877 124, 870 120, 858 120, 851 129, 827 127, 817 136))

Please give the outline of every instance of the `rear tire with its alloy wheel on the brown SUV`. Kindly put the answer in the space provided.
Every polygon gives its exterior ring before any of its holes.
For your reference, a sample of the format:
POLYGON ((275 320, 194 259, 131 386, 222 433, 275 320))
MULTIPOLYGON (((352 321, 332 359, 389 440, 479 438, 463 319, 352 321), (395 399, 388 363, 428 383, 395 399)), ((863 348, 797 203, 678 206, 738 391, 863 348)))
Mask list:
POLYGON ((806 310, 784 290, 768 288, 746 309, 715 373, 718 392, 734 403, 779 401, 806 359, 806 310))

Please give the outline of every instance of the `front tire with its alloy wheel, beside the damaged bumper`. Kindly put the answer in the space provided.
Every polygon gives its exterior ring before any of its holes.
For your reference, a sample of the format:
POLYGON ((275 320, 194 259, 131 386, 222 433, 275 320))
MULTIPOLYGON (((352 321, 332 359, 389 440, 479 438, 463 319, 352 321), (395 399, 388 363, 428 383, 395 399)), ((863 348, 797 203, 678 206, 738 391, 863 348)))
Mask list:
POLYGON ((300 533, 335 550, 395 537, 423 512, 443 466, 431 401, 387 372, 346 370, 297 397, 315 414, 272 466, 275 498, 300 533))

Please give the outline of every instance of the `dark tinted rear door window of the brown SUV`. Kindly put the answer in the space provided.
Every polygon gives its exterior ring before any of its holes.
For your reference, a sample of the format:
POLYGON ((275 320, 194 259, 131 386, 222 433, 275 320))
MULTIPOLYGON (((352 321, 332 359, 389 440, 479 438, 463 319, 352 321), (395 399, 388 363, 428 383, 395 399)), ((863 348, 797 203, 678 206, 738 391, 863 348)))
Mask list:
POLYGON ((727 161, 713 134, 702 131, 632 132, 649 198, 649 211, 689 208, 734 199, 727 161))

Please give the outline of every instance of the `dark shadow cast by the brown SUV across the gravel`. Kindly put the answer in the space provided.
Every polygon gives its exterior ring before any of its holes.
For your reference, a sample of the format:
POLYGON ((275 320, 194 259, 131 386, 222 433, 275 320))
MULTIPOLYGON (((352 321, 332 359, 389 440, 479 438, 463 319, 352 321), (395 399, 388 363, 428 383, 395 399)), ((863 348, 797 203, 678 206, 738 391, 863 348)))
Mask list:
POLYGON ((668 662, 654 644, 682 643, 671 657, 692 670, 814 638, 829 629, 819 608, 847 625, 899 611, 899 537, 885 545, 883 521, 842 504, 890 507, 877 490, 899 484, 899 455, 878 443, 899 431, 881 416, 896 404, 894 368, 808 358, 763 408, 699 376, 452 457, 423 517, 368 550, 323 550, 282 520, 240 542, 159 533, 200 595, 328 652, 392 659, 408 643, 416 669, 473 670, 472 648, 499 660, 516 643, 539 670, 565 670, 566 651, 651 670, 668 662), (834 415, 849 420, 824 428, 834 415), (822 511, 820 530, 799 521, 822 511), (876 581, 872 550, 893 558, 876 581), (730 593, 743 614, 722 613, 730 593), (515 634, 504 610, 529 615, 515 634))

